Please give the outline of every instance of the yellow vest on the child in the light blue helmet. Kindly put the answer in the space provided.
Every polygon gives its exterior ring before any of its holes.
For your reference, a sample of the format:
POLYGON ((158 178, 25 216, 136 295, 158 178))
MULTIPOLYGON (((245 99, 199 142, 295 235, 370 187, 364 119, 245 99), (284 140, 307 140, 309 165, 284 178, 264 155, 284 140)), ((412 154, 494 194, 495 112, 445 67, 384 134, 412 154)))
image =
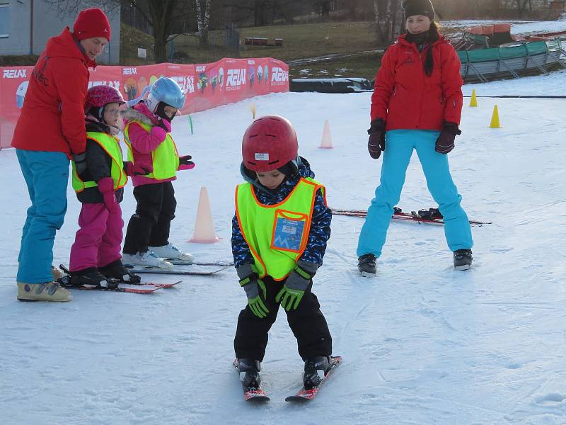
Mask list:
MULTIPOLYGON (((126 145, 128 147, 128 161, 134 162, 134 154, 132 152, 132 142, 129 141, 129 125, 131 123, 137 123, 141 128, 146 130, 146 132, 151 132, 153 126, 140 121, 130 121, 127 123, 124 129, 124 138, 126 145)), ((177 169, 179 168, 179 153, 177 152, 177 145, 173 141, 173 137, 167 133, 167 137, 163 142, 151 152, 151 162, 154 167, 154 171, 146 174, 145 177, 156 180, 171 179, 177 175, 177 169)))

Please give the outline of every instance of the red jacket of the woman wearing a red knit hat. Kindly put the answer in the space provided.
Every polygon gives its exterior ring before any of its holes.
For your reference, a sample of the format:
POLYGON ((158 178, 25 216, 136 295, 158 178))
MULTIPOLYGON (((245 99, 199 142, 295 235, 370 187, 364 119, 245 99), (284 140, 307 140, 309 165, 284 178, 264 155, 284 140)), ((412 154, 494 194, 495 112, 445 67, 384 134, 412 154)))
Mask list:
POLYGON ((86 149, 84 101, 88 67, 96 67, 69 31, 50 38, 30 78, 12 146, 80 154, 86 149))

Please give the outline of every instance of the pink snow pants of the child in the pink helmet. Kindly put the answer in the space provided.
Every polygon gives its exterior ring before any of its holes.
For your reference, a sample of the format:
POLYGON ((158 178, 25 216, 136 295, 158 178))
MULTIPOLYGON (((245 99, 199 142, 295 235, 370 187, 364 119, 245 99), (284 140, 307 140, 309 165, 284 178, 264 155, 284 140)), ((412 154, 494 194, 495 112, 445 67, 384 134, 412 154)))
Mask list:
POLYGON ((71 246, 70 271, 108 266, 122 259, 122 210, 109 212, 103 203, 83 203, 75 242, 71 246))

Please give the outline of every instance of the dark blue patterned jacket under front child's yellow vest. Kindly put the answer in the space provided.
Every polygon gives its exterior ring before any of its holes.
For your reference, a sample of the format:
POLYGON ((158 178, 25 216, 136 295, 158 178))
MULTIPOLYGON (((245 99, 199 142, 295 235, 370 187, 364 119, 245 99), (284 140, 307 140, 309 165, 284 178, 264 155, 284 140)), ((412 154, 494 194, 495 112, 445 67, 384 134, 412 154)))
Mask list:
MULTIPOLYGON (((311 171, 311 166, 308 161, 301 157, 301 164, 299 165, 299 175, 301 177, 311 177, 314 179, 314 173, 311 171)), ((284 198, 289 196, 289 193, 299 183, 299 176, 295 176, 291 180, 284 181, 278 188, 270 191, 270 189, 262 186, 258 180, 250 179, 242 169, 243 178, 252 183, 253 191, 257 196, 260 203, 264 205, 273 205, 282 202, 284 198)), ((311 230, 308 233, 308 242, 305 251, 299 259, 308 261, 309 263, 318 264, 321 266, 323 263, 323 256, 326 250, 326 242, 330 238, 330 222, 332 221, 332 211, 324 202, 323 194, 320 189, 316 192, 315 204, 313 208, 313 218, 311 222, 311 230)), ((253 256, 250 252, 250 247, 243 239, 240 226, 238 225, 238 217, 234 215, 232 219, 232 255, 234 257, 234 266, 238 268, 242 264, 253 263, 253 256)))

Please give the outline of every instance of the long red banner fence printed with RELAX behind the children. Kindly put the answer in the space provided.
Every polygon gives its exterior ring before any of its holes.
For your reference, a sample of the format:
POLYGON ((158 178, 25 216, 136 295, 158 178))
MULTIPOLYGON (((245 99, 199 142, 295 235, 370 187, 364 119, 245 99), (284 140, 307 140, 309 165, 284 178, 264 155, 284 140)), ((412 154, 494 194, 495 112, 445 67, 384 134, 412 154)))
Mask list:
MULTIPOLYGON (((144 89, 170 77, 187 93, 181 113, 193 113, 253 96, 289 91, 289 67, 280 60, 222 59, 212 64, 155 64, 140 67, 98 66, 88 86, 120 89, 125 100, 145 98, 144 89)), ((10 147, 33 67, 0 67, 0 148, 10 147)))

